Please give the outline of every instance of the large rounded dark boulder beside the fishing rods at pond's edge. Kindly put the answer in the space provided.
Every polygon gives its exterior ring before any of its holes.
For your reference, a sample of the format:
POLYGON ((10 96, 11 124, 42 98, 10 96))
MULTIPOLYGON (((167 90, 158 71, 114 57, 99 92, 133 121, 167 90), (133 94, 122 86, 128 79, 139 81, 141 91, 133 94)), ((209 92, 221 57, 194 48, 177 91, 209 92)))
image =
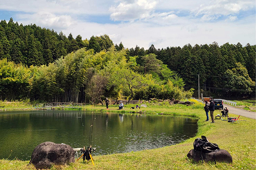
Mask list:
POLYGON ((65 165, 75 162, 75 151, 67 144, 43 142, 35 147, 29 164, 36 168, 50 168, 53 164, 65 165))

